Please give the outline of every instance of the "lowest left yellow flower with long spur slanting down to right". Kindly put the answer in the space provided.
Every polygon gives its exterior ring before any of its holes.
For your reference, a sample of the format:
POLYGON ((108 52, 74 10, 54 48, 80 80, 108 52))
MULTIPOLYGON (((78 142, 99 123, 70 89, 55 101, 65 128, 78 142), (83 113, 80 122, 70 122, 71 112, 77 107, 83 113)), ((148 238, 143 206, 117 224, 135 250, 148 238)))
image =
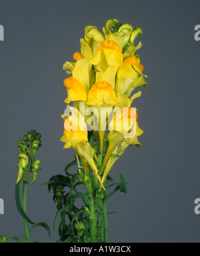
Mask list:
POLYGON ((64 135, 61 138, 61 141, 65 142, 64 148, 69 149, 73 147, 81 158, 85 175, 88 175, 87 163, 89 163, 103 187, 101 177, 98 174, 98 169, 93 160, 94 150, 88 142, 85 119, 74 107, 69 107, 69 109, 71 110, 71 115, 63 116, 65 123, 64 135))

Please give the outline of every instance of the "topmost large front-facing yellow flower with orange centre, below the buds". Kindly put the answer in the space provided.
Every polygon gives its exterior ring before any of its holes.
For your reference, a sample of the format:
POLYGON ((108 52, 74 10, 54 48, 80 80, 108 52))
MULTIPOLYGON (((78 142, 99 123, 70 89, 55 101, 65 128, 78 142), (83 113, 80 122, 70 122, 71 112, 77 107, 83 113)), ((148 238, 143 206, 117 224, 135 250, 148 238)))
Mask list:
POLYGON ((89 59, 95 65, 96 82, 107 81, 115 88, 115 76, 123 65, 123 54, 114 41, 105 40, 98 47, 95 56, 89 59))

